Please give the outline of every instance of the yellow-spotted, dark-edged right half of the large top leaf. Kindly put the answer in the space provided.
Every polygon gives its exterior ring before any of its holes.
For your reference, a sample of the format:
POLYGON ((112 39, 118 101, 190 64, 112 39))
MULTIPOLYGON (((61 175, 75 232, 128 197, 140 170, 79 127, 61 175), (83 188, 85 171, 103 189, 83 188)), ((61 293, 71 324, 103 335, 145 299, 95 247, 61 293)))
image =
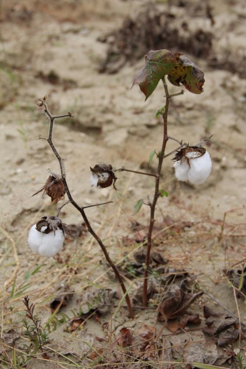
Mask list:
POLYGON ((184 85, 193 93, 203 92, 204 73, 196 64, 191 62, 183 54, 175 54, 177 65, 168 73, 168 79, 174 86, 184 85))

